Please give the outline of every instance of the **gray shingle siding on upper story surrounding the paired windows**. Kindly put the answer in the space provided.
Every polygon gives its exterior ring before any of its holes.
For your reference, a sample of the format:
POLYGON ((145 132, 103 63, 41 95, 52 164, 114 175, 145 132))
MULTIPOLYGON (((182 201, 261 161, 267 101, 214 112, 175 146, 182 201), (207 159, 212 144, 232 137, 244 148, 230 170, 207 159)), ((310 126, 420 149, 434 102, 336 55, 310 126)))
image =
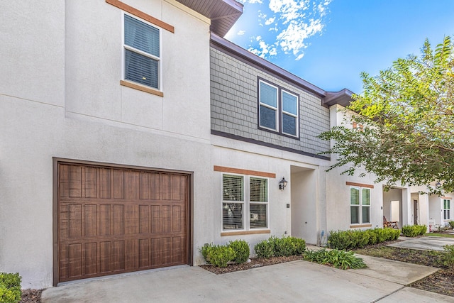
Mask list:
POLYGON ((316 136, 329 129, 329 109, 321 99, 267 72, 211 48, 211 129, 243 138, 319 153, 328 141, 316 136), (258 77, 299 95, 300 140, 258 129, 258 77))

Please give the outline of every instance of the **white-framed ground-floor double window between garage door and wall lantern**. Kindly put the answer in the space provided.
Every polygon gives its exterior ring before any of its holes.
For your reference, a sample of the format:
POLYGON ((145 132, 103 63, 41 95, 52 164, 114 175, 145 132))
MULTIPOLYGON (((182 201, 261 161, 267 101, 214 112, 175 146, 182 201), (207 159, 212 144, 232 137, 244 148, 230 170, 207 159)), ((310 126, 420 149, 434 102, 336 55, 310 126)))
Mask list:
POLYGON ((222 175, 222 230, 268 227, 268 180, 222 175), (248 216, 246 216, 248 214, 248 216))

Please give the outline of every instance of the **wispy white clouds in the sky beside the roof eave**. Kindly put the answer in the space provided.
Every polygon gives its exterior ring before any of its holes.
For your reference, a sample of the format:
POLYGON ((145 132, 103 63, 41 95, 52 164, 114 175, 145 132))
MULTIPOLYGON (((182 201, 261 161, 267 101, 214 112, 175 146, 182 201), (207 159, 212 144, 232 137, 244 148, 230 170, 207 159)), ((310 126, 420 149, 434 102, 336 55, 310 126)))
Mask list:
MULTIPOLYGON (((245 2, 251 4, 251 1, 255 0, 245 2)), ((310 45, 309 38, 323 33, 324 17, 329 13, 331 1, 270 0, 267 8, 260 6, 259 25, 275 35, 265 35, 265 32, 258 35, 250 51, 265 58, 292 54, 295 60, 301 60, 304 49, 310 45)))

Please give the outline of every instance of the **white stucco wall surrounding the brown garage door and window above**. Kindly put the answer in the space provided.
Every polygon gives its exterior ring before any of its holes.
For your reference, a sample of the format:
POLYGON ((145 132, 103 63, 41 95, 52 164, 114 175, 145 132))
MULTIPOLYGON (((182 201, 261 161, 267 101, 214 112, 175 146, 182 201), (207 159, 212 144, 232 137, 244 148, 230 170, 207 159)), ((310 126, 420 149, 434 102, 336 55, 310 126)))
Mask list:
POLYGON ((175 1, 127 3, 175 26, 162 31, 162 98, 120 86, 116 7, 1 5, 0 270, 23 288, 52 285, 53 157, 194 172, 194 214, 206 219, 194 238, 212 224, 209 22, 175 1))

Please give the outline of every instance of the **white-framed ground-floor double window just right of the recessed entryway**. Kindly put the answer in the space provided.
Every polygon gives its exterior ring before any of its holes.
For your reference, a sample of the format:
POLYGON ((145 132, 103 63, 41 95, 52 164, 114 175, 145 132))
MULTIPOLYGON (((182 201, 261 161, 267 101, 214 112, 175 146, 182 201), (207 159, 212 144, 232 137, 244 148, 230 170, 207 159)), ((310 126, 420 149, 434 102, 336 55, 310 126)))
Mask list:
POLYGON ((350 224, 370 224, 370 188, 350 187, 350 224))

